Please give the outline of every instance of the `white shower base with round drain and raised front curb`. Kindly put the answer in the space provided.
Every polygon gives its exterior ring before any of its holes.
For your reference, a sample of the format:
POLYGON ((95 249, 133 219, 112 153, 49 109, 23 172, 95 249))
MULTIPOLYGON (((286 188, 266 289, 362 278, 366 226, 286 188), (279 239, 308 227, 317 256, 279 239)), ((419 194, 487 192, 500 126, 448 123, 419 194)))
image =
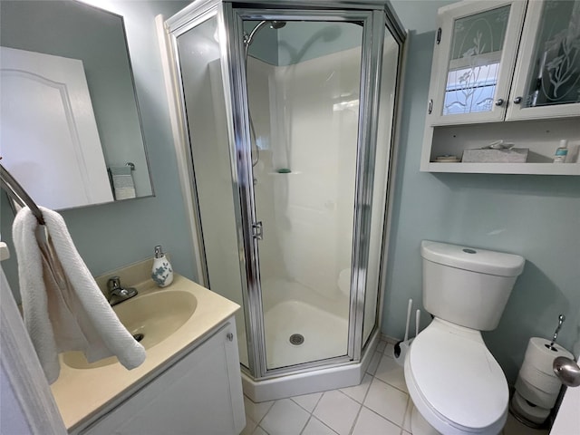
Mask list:
MULTIPOLYGON (((372 333, 360 362, 347 360, 347 295, 338 287, 324 292, 284 279, 264 280, 262 290, 267 307, 264 313, 267 368, 321 360, 328 363, 308 369, 295 365, 295 372, 291 372, 294 367, 288 367, 288 374, 277 372, 257 380, 243 371, 242 387, 252 401, 273 401, 361 383, 378 343, 378 332, 372 333), (302 335, 304 343, 291 343, 293 334, 302 335), (334 357, 343 360, 335 362, 331 360, 334 357)), ((245 331, 240 329, 239 343, 246 343, 245 331)), ((240 361, 247 361, 246 346, 240 345, 239 349, 240 361)))

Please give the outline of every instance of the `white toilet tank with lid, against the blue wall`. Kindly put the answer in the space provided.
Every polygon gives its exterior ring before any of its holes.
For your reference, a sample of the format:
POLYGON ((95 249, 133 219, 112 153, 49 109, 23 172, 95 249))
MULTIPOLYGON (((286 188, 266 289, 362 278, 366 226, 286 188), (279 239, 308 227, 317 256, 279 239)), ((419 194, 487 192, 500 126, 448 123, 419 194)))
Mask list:
POLYGON ((478 331, 498 327, 522 256, 423 240, 423 305, 440 319, 478 331))

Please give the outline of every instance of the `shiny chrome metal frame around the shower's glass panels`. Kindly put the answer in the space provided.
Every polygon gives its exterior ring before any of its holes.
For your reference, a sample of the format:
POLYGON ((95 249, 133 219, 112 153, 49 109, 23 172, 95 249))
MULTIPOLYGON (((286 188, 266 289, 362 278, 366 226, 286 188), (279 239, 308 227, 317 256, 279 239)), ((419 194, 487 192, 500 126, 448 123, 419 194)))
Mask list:
MULTIPOLYGON (((198 24, 217 17, 220 45, 220 63, 223 74, 224 94, 226 95, 227 131, 230 141, 229 158, 231 176, 234 185, 233 196, 237 221, 237 245, 240 257, 242 276, 242 294, 246 314, 246 332, 248 347, 247 372, 256 380, 274 378, 286 374, 312 371, 360 362, 363 348, 362 326, 364 318, 364 301, 366 288, 366 267, 369 259, 368 235, 371 227, 372 188, 374 176, 374 157, 378 131, 378 112, 380 102, 380 82, 382 71, 382 52, 385 32, 389 31, 399 44, 399 70, 401 71, 402 44, 405 32, 401 24, 391 13, 390 5, 385 0, 366 1, 292 1, 292 0, 254 0, 249 8, 247 2, 240 0, 198 0, 186 7, 179 14, 165 22, 169 34, 174 62, 179 65, 177 38, 187 33, 198 24), (349 308, 349 332, 347 353, 324 361, 305 362, 289 367, 268 369, 266 366, 265 325, 262 313, 262 290, 259 281, 259 259, 257 243, 252 228, 256 222, 254 207, 254 183, 252 177, 251 138, 247 103, 247 85, 245 68, 245 51, 243 22, 252 21, 326 21, 357 22, 362 24, 362 71, 359 100, 359 122, 357 133, 356 182, 353 219, 353 261, 351 265, 351 298, 349 308), (250 225, 244 225, 244 222, 250 225)), ((179 68, 175 69, 177 81, 181 82, 179 68)), ((400 79, 401 74, 398 74, 400 79)), ((399 83, 395 89, 399 88, 399 83)), ((181 117, 186 119, 183 90, 179 92, 181 117)), ((397 99, 395 98, 395 102, 397 99)), ((396 113, 396 110, 393 111, 396 113)), ((189 143, 189 131, 182 132, 185 143, 189 143)), ((395 126, 391 134, 391 152, 393 150, 395 126)), ((189 148, 189 147, 188 147, 189 148)), ((191 151, 188 150, 191 161, 191 151)), ((390 171, 391 173, 391 171, 390 171)), ((194 185, 193 165, 189 164, 189 176, 194 185)), ((201 233, 199 209, 197 203, 198 234, 201 233)), ((386 210, 383 218, 386 227, 386 210)), ((202 256, 203 270, 198 271, 205 283, 208 283, 208 269, 205 261, 203 237, 199 237, 198 253, 202 256)), ((381 269, 379 288, 382 286, 386 256, 385 235, 383 232, 381 269)), ((379 298, 381 292, 379 292, 379 298)), ((372 337, 380 324, 381 304, 377 304, 372 337)))

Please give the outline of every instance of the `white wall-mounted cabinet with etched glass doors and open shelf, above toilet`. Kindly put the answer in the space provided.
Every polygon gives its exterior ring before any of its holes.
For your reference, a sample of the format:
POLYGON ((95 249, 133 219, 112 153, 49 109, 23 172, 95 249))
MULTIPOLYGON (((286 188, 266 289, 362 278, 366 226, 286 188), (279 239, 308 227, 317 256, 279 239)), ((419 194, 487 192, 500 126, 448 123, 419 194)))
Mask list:
MULTIPOLYGON (((570 163, 579 146, 580 0, 440 9, 421 170, 580 175, 580 164, 570 163), (554 164, 563 139, 569 155, 554 164), (462 161, 464 150, 496 140, 525 149, 525 162, 462 161)), ((503 152, 499 160, 515 155, 503 152)))

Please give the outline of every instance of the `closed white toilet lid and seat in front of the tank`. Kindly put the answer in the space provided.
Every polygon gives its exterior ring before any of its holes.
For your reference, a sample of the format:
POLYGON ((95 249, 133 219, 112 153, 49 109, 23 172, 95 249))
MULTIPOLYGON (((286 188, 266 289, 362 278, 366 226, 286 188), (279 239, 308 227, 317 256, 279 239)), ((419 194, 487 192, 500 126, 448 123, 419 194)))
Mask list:
POLYGON ((506 377, 478 331, 435 318, 413 340, 404 371, 413 403, 441 433, 495 435, 503 428, 506 377))

